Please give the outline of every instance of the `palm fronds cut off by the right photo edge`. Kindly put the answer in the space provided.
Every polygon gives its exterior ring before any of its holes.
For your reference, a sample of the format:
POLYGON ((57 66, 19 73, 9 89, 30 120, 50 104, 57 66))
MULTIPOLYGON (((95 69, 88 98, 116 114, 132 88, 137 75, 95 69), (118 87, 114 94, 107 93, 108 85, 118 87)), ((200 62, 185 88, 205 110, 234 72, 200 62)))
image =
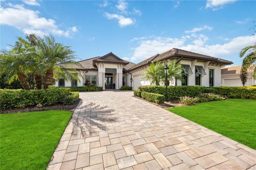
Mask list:
MULTIPOLYGON (((256 43, 252 46, 244 47, 240 52, 240 57, 244 57, 242 67, 247 70, 256 63, 256 43), (246 55, 246 56, 245 56, 246 55)), ((254 66, 253 77, 256 79, 256 66, 254 66)))

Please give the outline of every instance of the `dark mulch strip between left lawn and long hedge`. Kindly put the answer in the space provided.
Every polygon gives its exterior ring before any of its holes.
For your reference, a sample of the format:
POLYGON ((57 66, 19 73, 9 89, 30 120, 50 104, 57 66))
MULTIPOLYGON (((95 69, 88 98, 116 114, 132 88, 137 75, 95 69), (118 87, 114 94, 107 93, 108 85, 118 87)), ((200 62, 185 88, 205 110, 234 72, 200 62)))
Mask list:
POLYGON ((13 108, 13 109, 8 109, 8 110, 1 110, 1 114, 7 114, 7 113, 22 113, 22 112, 35 112, 35 111, 70 111, 74 112, 75 108, 79 104, 81 99, 78 99, 76 103, 72 105, 61 105, 61 104, 56 104, 52 106, 42 106, 42 107, 25 107, 25 108, 13 108))

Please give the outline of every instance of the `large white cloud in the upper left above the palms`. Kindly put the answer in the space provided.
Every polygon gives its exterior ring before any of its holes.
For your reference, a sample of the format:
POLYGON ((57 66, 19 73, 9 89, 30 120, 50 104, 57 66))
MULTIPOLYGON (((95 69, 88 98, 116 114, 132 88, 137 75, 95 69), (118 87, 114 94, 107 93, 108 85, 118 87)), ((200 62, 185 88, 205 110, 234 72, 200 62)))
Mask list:
MULTIPOLYGON (((53 19, 40 17, 39 11, 25 8, 23 5, 8 4, 10 7, 0 7, 0 24, 9 25, 24 33, 35 33, 38 36, 49 35, 70 36, 70 29, 61 30, 53 19)), ((76 27, 71 31, 77 31, 76 27)))

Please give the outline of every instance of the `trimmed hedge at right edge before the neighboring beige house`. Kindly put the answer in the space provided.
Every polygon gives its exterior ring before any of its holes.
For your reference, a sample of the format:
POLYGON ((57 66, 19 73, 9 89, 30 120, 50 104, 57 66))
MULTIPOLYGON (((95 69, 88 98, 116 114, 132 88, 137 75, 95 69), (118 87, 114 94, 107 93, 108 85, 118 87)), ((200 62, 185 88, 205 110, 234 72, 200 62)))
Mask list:
POLYGON ((213 87, 216 94, 228 98, 256 99, 256 87, 213 87))

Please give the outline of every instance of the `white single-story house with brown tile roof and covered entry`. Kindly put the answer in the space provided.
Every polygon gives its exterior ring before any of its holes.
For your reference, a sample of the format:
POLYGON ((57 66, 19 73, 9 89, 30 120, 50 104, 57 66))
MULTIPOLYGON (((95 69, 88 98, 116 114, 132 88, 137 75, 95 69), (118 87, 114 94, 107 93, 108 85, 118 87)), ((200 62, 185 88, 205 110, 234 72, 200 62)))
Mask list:
POLYGON ((104 56, 79 61, 82 66, 75 66, 75 69, 83 77, 79 78, 80 81, 59 79, 55 86, 84 86, 90 82, 94 86, 102 86, 103 89, 119 89, 123 85, 128 85, 136 90, 138 86, 150 85, 150 82, 143 80, 142 74, 151 62, 164 60, 169 62, 174 59, 182 64, 186 75, 184 75, 185 82, 170 81, 171 86, 221 86, 221 67, 233 64, 233 62, 221 58, 177 48, 156 54, 138 64, 122 60, 115 54, 108 53, 104 56))

